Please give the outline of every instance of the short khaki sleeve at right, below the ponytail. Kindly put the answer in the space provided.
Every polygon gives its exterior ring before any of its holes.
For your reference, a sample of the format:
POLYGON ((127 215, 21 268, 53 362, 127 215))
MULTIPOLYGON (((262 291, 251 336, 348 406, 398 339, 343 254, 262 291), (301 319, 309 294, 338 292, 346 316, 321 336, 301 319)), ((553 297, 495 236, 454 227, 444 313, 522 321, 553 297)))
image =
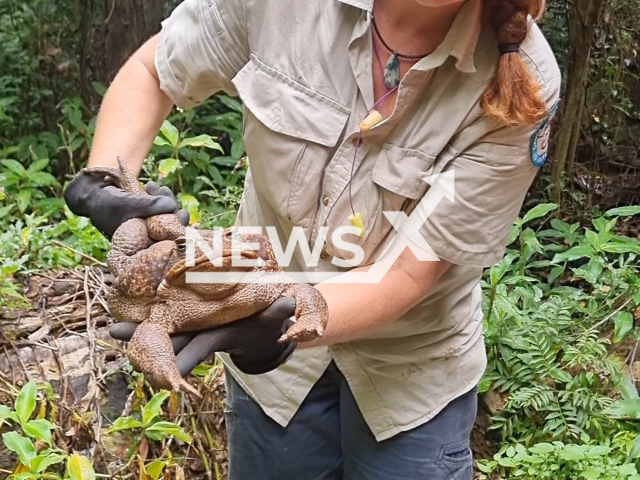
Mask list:
MULTIPOLYGON (((559 89, 559 77, 546 86, 550 111, 559 89)), ((440 201, 420 230, 440 259, 488 267, 502 258, 511 226, 538 172, 532 161, 532 139, 547 120, 495 129, 448 162, 443 171, 453 171, 454 201, 440 201)))

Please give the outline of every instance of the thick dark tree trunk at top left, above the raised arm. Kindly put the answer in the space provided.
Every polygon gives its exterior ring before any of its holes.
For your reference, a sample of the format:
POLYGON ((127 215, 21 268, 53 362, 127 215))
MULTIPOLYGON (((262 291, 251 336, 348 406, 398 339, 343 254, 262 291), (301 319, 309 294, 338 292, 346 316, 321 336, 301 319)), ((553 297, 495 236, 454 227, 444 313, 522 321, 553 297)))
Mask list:
POLYGON ((149 37, 160 30, 164 2, 160 0, 106 0, 103 25, 103 61, 98 78, 110 83, 122 64, 149 37))

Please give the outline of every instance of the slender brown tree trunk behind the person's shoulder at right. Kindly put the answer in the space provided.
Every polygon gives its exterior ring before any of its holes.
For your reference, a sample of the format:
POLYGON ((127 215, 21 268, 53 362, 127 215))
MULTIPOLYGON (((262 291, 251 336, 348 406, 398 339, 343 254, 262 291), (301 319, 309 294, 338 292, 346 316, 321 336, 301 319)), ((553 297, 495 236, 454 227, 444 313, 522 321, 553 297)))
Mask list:
POLYGON ((553 165, 553 197, 557 203, 562 198, 563 176, 571 175, 578 149, 591 45, 601 7, 602 0, 575 0, 569 6, 569 78, 553 165))

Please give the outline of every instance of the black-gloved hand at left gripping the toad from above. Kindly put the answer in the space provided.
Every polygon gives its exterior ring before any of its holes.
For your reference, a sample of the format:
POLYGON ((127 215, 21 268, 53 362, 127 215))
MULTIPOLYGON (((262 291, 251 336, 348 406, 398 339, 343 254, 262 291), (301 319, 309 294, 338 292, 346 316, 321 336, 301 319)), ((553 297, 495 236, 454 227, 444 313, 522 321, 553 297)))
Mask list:
MULTIPOLYGON (((149 182, 145 191, 149 195, 128 193, 105 182, 104 175, 81 172, 65 189, 64 199, 69 210, 88 217, 105 237, 111 239, 116 229, 130 218, 146 218, 177 210, 168 187, 149 182)), ((184 213, 179 216, 183 225, 188 224, 188 214, 186 223, 184 213)))

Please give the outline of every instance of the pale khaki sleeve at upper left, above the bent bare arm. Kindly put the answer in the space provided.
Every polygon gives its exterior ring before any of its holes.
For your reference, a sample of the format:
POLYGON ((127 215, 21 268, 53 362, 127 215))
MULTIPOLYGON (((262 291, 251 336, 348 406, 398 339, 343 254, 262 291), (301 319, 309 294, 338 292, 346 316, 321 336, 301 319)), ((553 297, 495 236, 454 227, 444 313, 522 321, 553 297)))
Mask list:
POLYGON ((162 23, 155 56, 160 88, 189 109, 224 91, 249 61, 244 0, 185 0, 162 23))

